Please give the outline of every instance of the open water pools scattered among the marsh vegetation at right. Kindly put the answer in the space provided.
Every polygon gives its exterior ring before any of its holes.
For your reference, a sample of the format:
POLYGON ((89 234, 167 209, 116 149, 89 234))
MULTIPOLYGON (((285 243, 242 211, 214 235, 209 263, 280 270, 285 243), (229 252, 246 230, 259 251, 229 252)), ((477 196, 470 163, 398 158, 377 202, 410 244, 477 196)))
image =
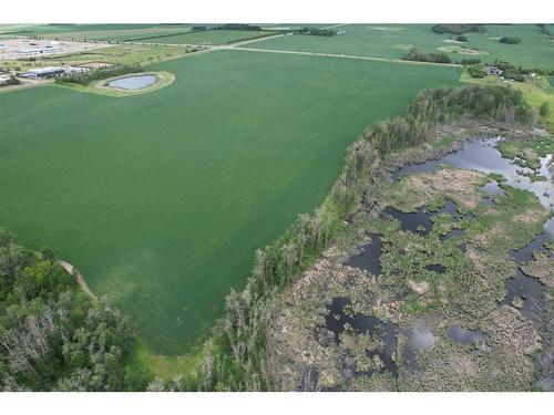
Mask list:
MULTIPOLYGON (((501 153, 496 149, 495 145, 500 138, 479 138, 473 139, 465 143, 464 147, 455 153, 448 154, 440 159, 429 160, 419 165, 409 165, 399 169, 393 174, 393 178, 398 179, 399 176, 403 174, 413 174, 413 173, 423 173, 423 172, 433 172, 440 165, 450 165, 456 168, 465 168, 465 169, 474 169, 484 174, 495 173, 502 175, 506 184, 520 188, 532 191, 536 195, 541 204, 548 208, 553 209, 554 206, 554 177, 552 167, 548 168, 550 163, 552 160, 552 155, 547 157, 541 157, 541 167, 537 170, 531 170, 529 168, 522 168, 517 166, 514 160, 509 160, 502 158, 501 153), (546 180, 536 180, 533 181, 527 175, 529 174, 538 174, 541 176, 546 177, 546 180)), ((483 203, 488 205, 494 205, 495 198, 502 197, 505 195, 505 191, 501 188, 496 180, 492 180, 491 183, 482 186, 480 188, 481 191, 485 195, 483 198, 483 203)), ((448 214, 450 215, 453 222, 458 222, 462 216, 458 210, 458 206, 452 200, 445 200, 444 206, 439 209, 437 212, 429 212, 424 209, 419 209, 416 212, 402 212, 392 207, 387 207, 383 211, 386 215, 390 215, 394 219, 400 222, 400 227, 402 230, 411 231, 421 236, 428 235, 433 226, 432 216, 437 214, 448 214)), ((466 214, 463 216, 464 219, 474 219, 473 214, 466 214)), ((449 234, 441 236, 441 240, 447 240, 453 237, 463 236, 462 229, 452 229, 449 234)), ((382 247, 382 241, 379 238, 379 235, 371 235, 371 243, 365 247, 365 250, 361 255, 353 257, 349 266, 358 267, 368 270, 369 272, 379 276, 381 273, 381 267, 379 263, 380 251, 382 247)), ((523 303, 520 304, 522 313, 529 319, 537 322, 538 324, 544 324, 544 310, 546 308, 545 304, 545 292, 544 286, 535 278, 526 276, 521 267, 533 259, 533 251, 544 250, 544 243, 547 240, 554 240, 554 218, 551 218, 544 225, 544 232, 536 236, 533 241, 531 241, 527 246, 514 250, 511 253, 512 259, 517 263, 519 268, 516 274, 511 278, 506 283, 506 297, 503 303, 514 304, 514 299, 520 298, 523 300, 523 303)), ((465 251, 465 243, 460 243, 458 246, 462 251, 465 251)), ((443 273, 445 271, 444 266, 442 264, 431 264, 428 266, 427 269, 429 271, 443 273)), ((338 313, 336 317, 339 317, 338 320, 331 320, 329 317, 326 320, 327 326, 329 330, 334 331, 336 334, 336 339, 338 339, 338 333, 343 330, 343 325, 348 322, 352 325, 355 331, 366 331, 368 333, 372 333, 379 324, 383 324, 378 319, 375 318, 346 318, 343 314, 343 307, 347 305, 348 299, 335 299, 334 303, 330 307, 330 314, 338 313), (336 301, 337 300, 337 301, 336 301), (358 328, 358 329, 357 329, 358 328)), ((392 323, 388 323, 392 324, 392 323)), ((386 347, 384 357, 387 355, 392 355, 396 347, 396 332, 388 331, 386 332, 386 347), (388 339, 388 340, 387 340, 388 339)), ((416 369, 416 351, 425 350, 433 346, 435 338, 434 335, 427 329, 423 321, 416 321, 412 328, 404 333, 408 338, 407 345, 403 350, 403 357, 407 362, 407 366, 409 370, 416 369)), ((474 354, 479 354, 482 350, 486 347, 486 335, 478 330, 468 330, 460 325, 451 325, 447 329, 447 335, 454 342, 459 344, 474 344, 475 350, 472 352, 474 354)), ((394 373, 397 373, 397 367, 394 362, 387 363, 387 359, 383 359, 387 367, 393 367, 394 373), (392 366, 394 364, 394 366, 392 366)), ((541 381, 543 382, 544 378, 541 381)))

